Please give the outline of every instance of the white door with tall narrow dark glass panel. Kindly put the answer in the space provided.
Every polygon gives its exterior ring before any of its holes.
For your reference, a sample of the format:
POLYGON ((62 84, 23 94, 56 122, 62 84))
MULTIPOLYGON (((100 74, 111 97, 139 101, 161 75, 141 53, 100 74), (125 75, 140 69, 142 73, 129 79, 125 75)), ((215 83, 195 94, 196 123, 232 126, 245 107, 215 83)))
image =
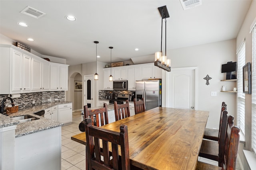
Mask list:
POLYGON ((94 76, 84 76, 84 105, 94 107, 94 76))

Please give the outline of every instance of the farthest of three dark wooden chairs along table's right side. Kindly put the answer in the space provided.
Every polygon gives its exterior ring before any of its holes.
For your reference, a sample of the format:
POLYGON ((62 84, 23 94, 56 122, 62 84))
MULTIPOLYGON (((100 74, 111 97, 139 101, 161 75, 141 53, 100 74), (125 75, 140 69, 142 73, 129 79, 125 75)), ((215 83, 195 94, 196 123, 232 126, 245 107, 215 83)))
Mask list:
POLYGON ((218 141, 219 140, 219 134, 220 134, 220 125, 221 125, 221 119, 222 119, 222 112, 226 110, 227 105, 225 102, 222 102, 221 111, 220 111, 220 123, 219 123, 219 129, 204 129, 204 139, 209 139, 212 141, 218 141))

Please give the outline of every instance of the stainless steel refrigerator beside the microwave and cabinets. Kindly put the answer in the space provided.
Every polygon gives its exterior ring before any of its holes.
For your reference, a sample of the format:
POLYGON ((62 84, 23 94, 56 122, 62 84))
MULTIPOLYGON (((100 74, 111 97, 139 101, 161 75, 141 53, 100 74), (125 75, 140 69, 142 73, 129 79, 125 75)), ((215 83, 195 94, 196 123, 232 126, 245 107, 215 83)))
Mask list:
POLYGON ((146 110, 162 106, 161 80, 137 80, 135 94, 137 101, 144 98, 146 110))

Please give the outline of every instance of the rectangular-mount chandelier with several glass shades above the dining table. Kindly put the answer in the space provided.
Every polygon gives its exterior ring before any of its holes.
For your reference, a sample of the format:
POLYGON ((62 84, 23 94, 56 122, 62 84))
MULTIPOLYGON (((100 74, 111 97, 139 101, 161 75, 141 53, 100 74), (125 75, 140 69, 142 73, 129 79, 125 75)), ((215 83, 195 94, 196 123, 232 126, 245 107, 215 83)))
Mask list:
POLYGON ((169 72, 171 71, 171 67, 170 59, 167 59, 166 57, 166 18, 169 18, 170 16, 166 6, 159 7, 158 10, 161 14, 161 51, 155 53, 154 65, 169 72), (162 55, 163 19, 165 19, 165 55, 162 55))

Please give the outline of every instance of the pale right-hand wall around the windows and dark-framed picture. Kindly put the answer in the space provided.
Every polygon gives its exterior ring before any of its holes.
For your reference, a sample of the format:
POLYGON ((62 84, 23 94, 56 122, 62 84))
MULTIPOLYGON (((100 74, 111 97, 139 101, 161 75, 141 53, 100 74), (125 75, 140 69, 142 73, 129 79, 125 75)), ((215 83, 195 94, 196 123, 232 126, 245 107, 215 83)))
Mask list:
MULTIPOLYGON (((253 0, 248 10, 244 23, 240 28, 238 36, 236 38, 236 49, 240 47, 240 44, 245 39, 245 63, 252 62, 252 33, 250 33, 250 26, 256 18, 256 1, 253 0)), ((239 145, 239 157, 242 161, 244 170, 248 170, 249 166, 244 157, 243 149, 251 150, 251 128, 252 128, 252 95, 245 94, 245 146, 239 145)))

